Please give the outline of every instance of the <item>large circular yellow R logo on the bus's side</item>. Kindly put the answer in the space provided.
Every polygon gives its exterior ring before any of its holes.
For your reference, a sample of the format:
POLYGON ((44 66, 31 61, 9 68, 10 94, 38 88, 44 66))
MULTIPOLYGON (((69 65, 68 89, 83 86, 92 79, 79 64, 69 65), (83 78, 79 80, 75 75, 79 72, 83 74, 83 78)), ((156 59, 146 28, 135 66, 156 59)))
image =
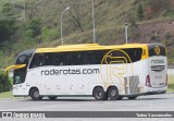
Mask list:
MULTIPOLYGON (((110 84, 117 84, 121 89, 124 89, 125 77, 133 75, 132 59, 124 50, 111 50, 103 57, 100 70, 105 87, 110 84)), ((126 86, 128 86, 128 83, 126 86)))

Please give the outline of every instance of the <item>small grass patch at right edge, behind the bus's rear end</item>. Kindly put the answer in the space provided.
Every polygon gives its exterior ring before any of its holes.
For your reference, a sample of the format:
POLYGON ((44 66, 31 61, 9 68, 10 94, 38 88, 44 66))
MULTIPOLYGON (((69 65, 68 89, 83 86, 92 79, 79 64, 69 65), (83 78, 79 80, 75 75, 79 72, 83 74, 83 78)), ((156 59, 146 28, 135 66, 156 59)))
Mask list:
POLYGON ((174 75, 167 76, 167 92, 174 92, 174 75))

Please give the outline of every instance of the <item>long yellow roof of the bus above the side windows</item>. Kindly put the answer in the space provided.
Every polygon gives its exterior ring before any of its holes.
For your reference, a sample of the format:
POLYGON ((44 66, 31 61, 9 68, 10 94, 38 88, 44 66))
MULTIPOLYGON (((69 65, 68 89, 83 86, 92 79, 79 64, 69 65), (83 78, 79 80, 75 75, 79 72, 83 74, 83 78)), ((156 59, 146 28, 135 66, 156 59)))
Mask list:
POLYGON ((113 46, 100 46, 98 44, 65 45, 55 48, 38 48, 36 49, 36 53, 83 51, 83 50, 107 50, 107 49, 122 49, 122 48, 147 48, 147 46, 148 44, 125 44, 125 45, 113 45, 113 46))

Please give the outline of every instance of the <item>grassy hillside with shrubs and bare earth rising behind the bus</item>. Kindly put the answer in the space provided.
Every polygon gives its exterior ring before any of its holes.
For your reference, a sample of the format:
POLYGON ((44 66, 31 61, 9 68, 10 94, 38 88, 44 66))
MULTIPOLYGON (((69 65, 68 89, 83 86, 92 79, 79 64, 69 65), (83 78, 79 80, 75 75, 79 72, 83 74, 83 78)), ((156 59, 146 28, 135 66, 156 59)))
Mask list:
MULTIPOLYGON (((174 62, 174 0, 94 0, 96 36, 100 45, 124 44, 124 24, 128 23, 128 43, 163 43, 169 62, 174 62)), ((0 48, 0 68, 14 63, 18 52, 61 45, 60 19, 66 45, 92 43, 90 0, 27 0, 24 20, 15 23, 0 48)))

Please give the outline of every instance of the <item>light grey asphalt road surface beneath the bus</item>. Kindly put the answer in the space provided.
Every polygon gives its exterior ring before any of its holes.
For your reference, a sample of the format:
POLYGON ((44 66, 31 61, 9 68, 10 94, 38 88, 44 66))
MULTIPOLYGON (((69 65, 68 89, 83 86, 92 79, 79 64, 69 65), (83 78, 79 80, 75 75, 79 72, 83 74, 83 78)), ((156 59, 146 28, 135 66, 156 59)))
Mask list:
MULTIPOLYGON (((96 101, 94 98, 58 98, 55 100, 33 101, 30 98, 0 99, 0 111, 174 111, 174 94, 141 96, 136 100, 96 101)), ((0 119, 1 120, 1 119, 0 119)), ((51 119, 50 121, 52 121, 51 119)), ((67 119, 63 119, 67 120, 67 119)), ((73 119, 86 121, 89 119, 73 119)), ((98 119, 91 119, 92 121, 98 119)), ((105 121, 107 119, 100 119, 105 121)), ((110 119, 114 120, 115 119, 110 119)), ((128 119, 116 119, 129 121, 128 119)), ((142 119, 140 119, 142 120, 142 119)), ((146 120, 146 119, 145 119, 146 120)), ((163 119, 174 121, 174 119, 163 119)), ((152 121, 163 121, 152 119, 152 121)), ((3 120, 4 121, 4 120, 3 120)), ((8 120, 9 121, 9 120, 8 120)), ((35 120, 33 120, 35 121, 35 120)), ((38 121, 38 120, 37 120, 38 121)), ((44 120, 45 121, 45 120, 44 120)), ((53 121, 57 121, 55 119, 53 121)), ((67 120, 69 121, 69 120, 67 120)), ((135 121, 139 121, 135 119, 135 121)))

